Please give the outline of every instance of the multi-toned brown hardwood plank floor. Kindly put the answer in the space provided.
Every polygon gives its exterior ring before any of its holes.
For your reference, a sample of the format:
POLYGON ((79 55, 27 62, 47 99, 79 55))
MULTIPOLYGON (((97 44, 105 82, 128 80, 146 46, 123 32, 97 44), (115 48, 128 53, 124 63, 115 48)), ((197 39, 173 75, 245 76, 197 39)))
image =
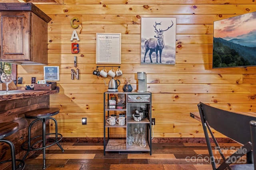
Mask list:
MULTIPOLYGON (((211 170, 205 143, 153 143, 148 152, 106 152, 103 143, 62 142, 65 152, 51 146, 46 151, 46 170, 211 170)), ((230 155, 237 143, 220 143, 230 155)), ((218 157, 218 153, 214 152, 218 157)), ((246 159, 246 157, 242 158, 246 159)), ((26 170, 42 169, 42 151, 25 160, 26 170)))

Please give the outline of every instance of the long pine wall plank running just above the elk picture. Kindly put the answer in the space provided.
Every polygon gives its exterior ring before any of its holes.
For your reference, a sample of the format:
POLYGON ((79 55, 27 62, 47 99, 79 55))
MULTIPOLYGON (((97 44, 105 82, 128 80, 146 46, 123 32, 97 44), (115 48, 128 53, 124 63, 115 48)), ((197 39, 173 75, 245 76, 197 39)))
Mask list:
POLYGON ((256 10, 255 4, 198 4, 198 5, 182 5, 182 4, 68 4, 58 5, 36 5, 46 14, 244 14, 246 9, 250 11, 256 10), (48 7, 48 8, 47 8, 48 7), (170 10, 172 9, 172 10, 170 10))

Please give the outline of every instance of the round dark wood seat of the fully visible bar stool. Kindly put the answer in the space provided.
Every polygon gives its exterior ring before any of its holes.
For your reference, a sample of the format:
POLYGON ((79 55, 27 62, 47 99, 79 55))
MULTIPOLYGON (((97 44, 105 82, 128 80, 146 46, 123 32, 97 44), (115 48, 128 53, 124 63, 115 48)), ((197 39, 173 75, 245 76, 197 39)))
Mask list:
POLYGON ((25 112, 24 115, 27 119, 46 118, 57 115, 60 112, 59 108, 43 108, 25 112))

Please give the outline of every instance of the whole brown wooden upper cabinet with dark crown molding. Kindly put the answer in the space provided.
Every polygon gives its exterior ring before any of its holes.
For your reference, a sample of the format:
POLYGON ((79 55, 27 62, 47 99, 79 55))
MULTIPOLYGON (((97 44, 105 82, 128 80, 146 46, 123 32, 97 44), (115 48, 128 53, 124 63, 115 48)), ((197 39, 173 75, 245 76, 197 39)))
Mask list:
POLYGON ((0 61, 47 65, 47 23, 51 18, 32 3, 0 3, 0 61))

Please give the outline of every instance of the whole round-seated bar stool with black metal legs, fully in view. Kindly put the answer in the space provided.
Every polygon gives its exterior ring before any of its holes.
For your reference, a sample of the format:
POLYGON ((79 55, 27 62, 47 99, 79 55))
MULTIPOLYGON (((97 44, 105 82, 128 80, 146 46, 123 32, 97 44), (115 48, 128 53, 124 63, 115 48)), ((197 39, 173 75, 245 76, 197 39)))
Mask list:
POLYGON ((62 134, 58 133, 58 126, 57 126, 57 121, 56 119, 52 118, 51 116, 57 115, 59 113, 60 109, 58 108, 44 108, 44 109, 36 109, 36 110, 32 110, 32 111, 28 111, 25 112, 24 115, 27 119, 36 119, 34 121, 32 121, 32 123, 30 123, 29 127, 28 127, 28 140, 26 142, 24 142, 21 146, 21 148, 23 150, 26 150, 26 154, 24 156, 24 158, 22 160, 25 160, 25 158, 28 156, 29 151, 32 150, 43 150, 43 169, 46 168, 46 164, 45 164, 45 149, 54 145, 54 144, 58 144, 58 146, 60 147, 60 149, 62 150, 62 152, 64 152, 64 149, 60 146, 59 142, 60 140, 62 140, 62 134), (55 122, 55 133, 48 133, 46 134, 46 119, 52 119, 55 122), (37 121, 42 121, 42 135, 39 136, 35 136, 35 137, 31 137, 31 127, 34 123, 36 123, 37 121), (47 138, 47 135, 50 134, 55 134, 54 138, 47 138), (40 137, 40 138, 39 138, 40 137), (31 144, 31 140, 39 138, 41 140, 38 140, 37 142, 34 142, 34 144, 31 144), (48 145, 46 145, 46 140, 48 140, 49 142, 52 140, 52 143, 48 145), (25 144, 27 144, 27 146, 25 147, 25 144), (39 148, 34 147, 35 144, 41 144, 39 148))

